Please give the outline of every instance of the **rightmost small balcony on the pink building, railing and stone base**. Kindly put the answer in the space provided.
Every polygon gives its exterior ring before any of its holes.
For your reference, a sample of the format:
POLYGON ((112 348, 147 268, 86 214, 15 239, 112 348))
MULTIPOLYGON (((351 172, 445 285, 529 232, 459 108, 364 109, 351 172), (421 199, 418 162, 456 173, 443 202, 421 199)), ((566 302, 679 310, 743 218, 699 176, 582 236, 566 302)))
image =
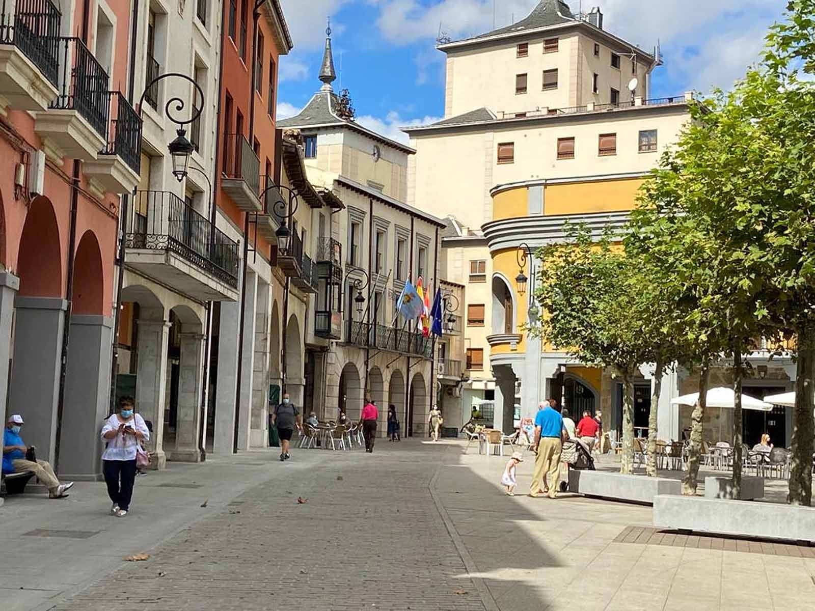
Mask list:
POLYGON ((110 95, 108 143, 83 170, 112 193, 130 193, 139 184, 142 120, 120 91, 110 95))

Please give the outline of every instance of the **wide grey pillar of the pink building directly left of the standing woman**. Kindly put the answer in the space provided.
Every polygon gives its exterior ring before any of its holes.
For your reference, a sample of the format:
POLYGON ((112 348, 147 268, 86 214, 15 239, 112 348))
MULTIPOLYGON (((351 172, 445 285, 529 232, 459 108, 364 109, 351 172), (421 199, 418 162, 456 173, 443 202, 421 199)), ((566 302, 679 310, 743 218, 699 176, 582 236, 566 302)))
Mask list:
POLYGON ((101 315, 72 314, 70 325, 59 475, 67 480, 99 481, 99 430, 110 411, 113 320, 101 315))

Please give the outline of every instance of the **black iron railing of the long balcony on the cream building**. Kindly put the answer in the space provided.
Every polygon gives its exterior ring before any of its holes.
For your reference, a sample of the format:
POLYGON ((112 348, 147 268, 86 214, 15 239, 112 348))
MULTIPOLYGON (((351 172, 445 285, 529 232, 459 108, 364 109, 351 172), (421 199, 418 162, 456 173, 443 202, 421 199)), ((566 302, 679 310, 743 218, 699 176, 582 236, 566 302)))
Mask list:
POLYGON ((238 244, 170 191, 136 191, 128 248, 171 250, 232 288, 238 244))

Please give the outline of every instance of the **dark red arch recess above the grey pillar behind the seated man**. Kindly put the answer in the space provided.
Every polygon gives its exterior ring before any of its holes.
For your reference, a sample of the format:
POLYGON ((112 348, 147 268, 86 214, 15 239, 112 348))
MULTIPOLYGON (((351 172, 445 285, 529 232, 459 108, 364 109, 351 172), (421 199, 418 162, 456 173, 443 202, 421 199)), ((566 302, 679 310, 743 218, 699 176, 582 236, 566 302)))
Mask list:
POLYGON ((59 224, 46 197, 36 197, 25 215, 17 257, 20 295, 62 297, 62 254, 59 224))

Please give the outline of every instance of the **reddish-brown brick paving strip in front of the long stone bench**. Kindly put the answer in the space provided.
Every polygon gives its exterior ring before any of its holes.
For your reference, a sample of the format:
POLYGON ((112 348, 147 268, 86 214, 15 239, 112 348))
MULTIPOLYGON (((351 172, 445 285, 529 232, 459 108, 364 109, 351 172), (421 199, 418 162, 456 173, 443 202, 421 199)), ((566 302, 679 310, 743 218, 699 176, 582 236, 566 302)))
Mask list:
POLYGON ((617 535, 615 543, 696 547, 698 549, 747 552, 752 554, 764 554, 766 556, 815 558, 815 547, 804 543, 778 543, 777 541, 764 541, 751 538, 689 534, 641 526, 627 526, 617 535))

